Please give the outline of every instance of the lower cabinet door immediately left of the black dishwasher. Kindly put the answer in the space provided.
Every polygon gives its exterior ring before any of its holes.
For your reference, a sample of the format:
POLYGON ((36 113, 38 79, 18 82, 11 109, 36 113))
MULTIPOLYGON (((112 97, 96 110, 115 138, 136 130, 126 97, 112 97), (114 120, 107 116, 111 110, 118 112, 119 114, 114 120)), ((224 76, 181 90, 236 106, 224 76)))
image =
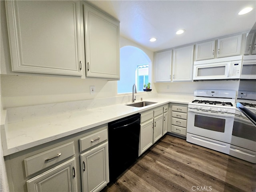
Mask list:
POLYGON ((80 155, 82 191, 98 192, 109 182, 108 142, 80 155))

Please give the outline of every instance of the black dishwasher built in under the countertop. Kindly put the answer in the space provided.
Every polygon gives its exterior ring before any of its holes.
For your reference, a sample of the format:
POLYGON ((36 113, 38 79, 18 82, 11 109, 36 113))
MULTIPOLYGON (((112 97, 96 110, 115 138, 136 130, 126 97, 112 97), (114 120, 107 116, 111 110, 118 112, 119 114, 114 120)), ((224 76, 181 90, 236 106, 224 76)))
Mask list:
POLYGON ((139 156, 140 114, 108 123, 109 178, 116 179, 139 156))

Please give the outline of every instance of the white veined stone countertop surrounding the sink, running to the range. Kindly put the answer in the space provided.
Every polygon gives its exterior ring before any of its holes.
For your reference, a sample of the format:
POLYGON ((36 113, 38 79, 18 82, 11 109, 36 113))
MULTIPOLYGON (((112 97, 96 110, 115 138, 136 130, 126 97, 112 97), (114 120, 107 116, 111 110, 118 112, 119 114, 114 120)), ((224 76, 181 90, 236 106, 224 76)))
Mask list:
POLYGON ((128 103, 123 103, 8 123, 4 128, 1 127, 1 136, 2 134, 6 136, 2 138, 3 153, 7 156, 170 102, 188 104, 191 100, 191 98, 162 96, 146 99, 145 101, 157 103, 141 108, 126 106, 128 103))

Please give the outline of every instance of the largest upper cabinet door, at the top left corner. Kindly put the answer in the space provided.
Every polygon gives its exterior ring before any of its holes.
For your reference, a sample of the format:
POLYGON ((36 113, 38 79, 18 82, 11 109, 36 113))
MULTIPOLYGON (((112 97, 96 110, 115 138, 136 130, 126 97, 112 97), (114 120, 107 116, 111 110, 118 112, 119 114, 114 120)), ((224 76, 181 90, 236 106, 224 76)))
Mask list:
POLYGON ((6 1, 12 71, 82 76, 74 1, 6 1))

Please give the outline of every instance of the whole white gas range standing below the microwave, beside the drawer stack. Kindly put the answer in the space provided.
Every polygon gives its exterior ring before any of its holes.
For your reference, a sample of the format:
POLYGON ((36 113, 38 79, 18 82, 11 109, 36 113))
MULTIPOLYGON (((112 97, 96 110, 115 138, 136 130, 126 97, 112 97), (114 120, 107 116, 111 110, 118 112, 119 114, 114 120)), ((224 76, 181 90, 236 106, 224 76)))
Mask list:
POLYGON ((195 90, 188 104, 188 142, 229 154, 236 91, 195 90))

